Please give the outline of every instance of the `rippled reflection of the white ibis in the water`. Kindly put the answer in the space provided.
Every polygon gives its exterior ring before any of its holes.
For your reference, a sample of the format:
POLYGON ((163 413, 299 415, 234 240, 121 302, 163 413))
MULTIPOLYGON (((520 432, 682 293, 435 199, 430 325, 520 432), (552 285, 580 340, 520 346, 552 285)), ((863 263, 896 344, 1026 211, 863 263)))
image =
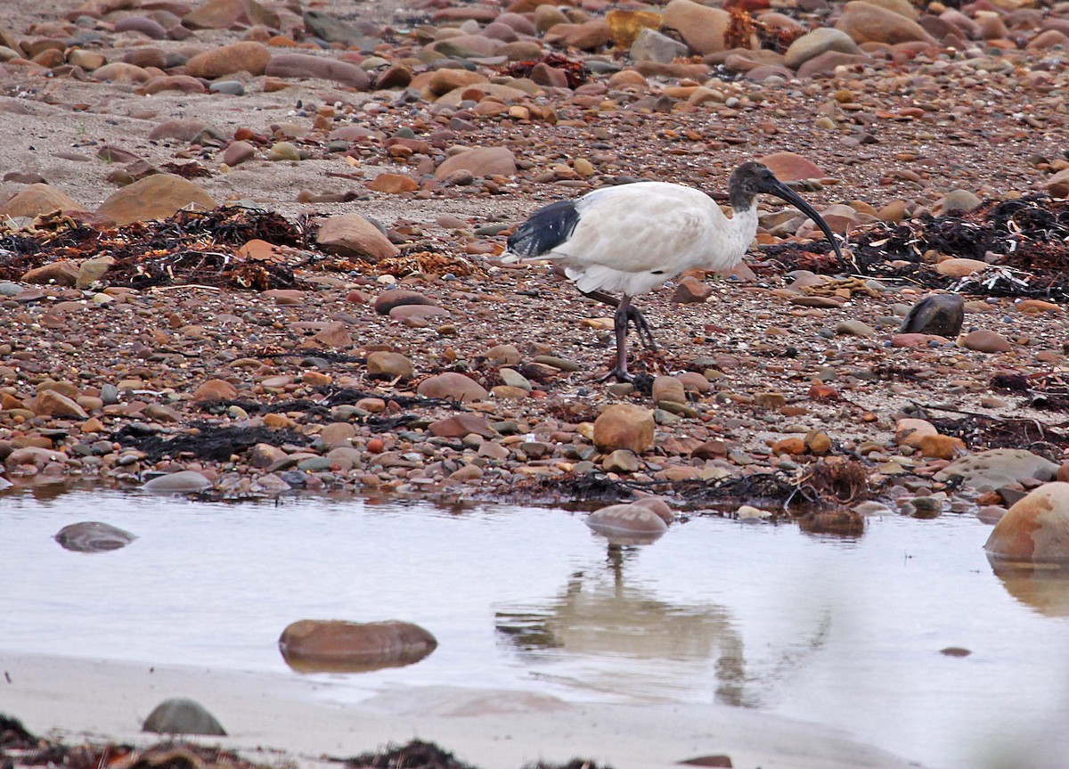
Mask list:
POLYGON ((604 568, 574 572, 544 606, 499 609, 498 634, 531 660, 553 650, 573 659, 597 658, 582 680, 569 683, 628 695, 666 694, 665 671, 657 663, 671 664, 672 678, 690 682, 703 676, 715 659, 716 699, 757 706, 745 691, 742 636, 727 610, 716 604, 675 605, 649 587, 628 584, 628 565, 639 554, 637 548, 609 543, 604 568))

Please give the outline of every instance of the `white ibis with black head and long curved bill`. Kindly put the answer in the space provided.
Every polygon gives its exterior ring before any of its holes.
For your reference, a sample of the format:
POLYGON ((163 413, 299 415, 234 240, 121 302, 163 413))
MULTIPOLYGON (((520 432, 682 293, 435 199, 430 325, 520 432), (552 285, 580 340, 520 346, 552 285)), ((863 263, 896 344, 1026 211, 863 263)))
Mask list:
POLYGON ((580 293, 616 307, 616 367, 608 376, 631 382, 629 321, 642 343, 656 349, 632 297, 687 270, 728 270, 738 264, 757 233, 760 193, 783 198, 812 219, 842 258, 832 228, 812 206, 765 166, 744 163, 728 184, 731 218, 706 193, 681 184, 602 187, 536 211, 509 239, 509 252, 501 261, 554 260, 580 293), (608 291, 619 292, 620 298, 608 291))

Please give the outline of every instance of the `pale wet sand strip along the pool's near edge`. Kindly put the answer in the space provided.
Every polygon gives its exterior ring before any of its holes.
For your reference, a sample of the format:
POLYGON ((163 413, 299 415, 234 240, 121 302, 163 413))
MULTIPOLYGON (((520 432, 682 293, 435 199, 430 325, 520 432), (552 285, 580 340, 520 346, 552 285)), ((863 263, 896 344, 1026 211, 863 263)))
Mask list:
POLYGON ((580 756, 620 769, 652 769, 726 754, 741 767, 904 769, 902 758, 848 735, 727 706, 576 705, 529 693, 413 688, 357 705, 331 702, 330 687, 299 676, 106 660, 5 655, 2 710, 31 732, 65 740, 148 744, 144 717, 168 697, 187 696, 224 725, 226 738, 265 764, 322 765, 388 742, 432 740, 485 769, 580 756))

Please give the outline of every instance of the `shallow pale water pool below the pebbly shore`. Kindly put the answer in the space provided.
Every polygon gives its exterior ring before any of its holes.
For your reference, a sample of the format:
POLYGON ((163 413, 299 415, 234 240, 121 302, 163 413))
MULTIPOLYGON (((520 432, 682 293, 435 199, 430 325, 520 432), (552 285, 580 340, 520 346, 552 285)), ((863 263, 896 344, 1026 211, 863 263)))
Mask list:
POLYGON ((1069 766, 1054 747, 1069 720, 1069 579, 995 574, 989 530, 887 516, 842 539, 695 517, 618 549, 561 509, 9 490, 0 652, 286 672, 277 640, 296 619, 404 619, 438 648, 407 667, 313 674, 330 696, 443 685, 722 702, 930 767, 1069 766), (138 539, 95 554, 52 539, 90 520, 138 539))

